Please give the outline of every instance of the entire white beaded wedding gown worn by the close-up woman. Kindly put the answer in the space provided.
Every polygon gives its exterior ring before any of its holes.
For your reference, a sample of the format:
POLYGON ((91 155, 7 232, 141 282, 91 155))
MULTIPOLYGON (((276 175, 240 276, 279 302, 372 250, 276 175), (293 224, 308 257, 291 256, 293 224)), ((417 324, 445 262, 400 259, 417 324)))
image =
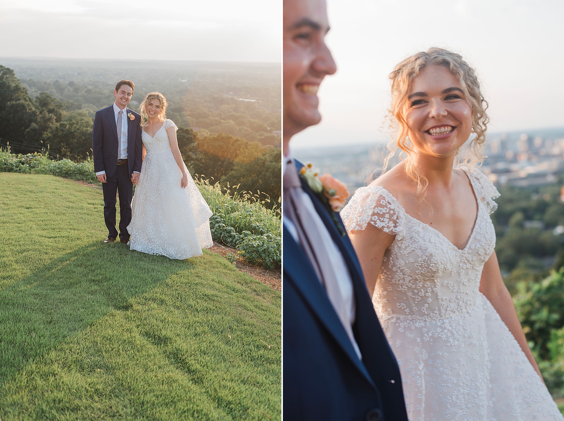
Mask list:
POLYGON ((482 172, 464 171, 478 216, 462 250, 382 187, 359 188, 341 211, 347 231, 371 223, 395 234, 373 304, 398 360, 409 419, 561 421, 539 375, 479 292, 495 246, 489 215, 499 193, 482 172))

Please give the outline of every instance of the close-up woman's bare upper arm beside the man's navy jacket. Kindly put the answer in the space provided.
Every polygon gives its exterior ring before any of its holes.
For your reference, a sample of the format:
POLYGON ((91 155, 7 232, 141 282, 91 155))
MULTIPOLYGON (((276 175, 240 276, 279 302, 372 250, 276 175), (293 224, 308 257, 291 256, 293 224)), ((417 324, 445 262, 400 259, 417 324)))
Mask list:
POLYGON ((372 224, 367 224, 362 231, 354 230, 350 233, 352 247, 354 247, 356 256, 358 256, 368 294, 371 298, 374 294, 378 275, 380 275, 384 253, 391 246, 394 238, 394 235, 388 234, 372 224))

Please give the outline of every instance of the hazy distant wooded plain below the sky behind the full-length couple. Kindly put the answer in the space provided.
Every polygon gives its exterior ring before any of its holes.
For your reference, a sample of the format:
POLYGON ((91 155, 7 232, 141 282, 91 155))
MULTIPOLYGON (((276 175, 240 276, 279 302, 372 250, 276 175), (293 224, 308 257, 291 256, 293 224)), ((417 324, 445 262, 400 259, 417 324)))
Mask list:
POLYGON ((120 68, 80 60, 61 64, 20 65, 17 73, 32 98, 48 92, 69 110, 80 109, 90 117, 112 103, 114 81, 130 79, 135 83, 130 104, 135 111, 145 94, 159 91, 168 100, 168 117, 200 137, 222 132, 280 146, 280 74, 275 66, 162 62, 157 68, 147 63, 124 63, 120 68))

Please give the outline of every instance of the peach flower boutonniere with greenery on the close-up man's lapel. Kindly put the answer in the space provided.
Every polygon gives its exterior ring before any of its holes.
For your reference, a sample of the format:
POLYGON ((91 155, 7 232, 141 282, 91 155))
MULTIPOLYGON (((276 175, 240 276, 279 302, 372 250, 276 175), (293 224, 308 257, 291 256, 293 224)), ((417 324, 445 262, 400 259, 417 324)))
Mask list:
POLYGON ((346 235, 345 227, 338 220, 336 213, 343 209, 349 197, 346 185, 333 178, 331 174, 319 175, 319 170, 312 166, 311 163, 303 166, 299 170, 299 175, 306 181, 321 203, 327 207, 333 223, 341 233, 341 236, 344 237, 346 235))

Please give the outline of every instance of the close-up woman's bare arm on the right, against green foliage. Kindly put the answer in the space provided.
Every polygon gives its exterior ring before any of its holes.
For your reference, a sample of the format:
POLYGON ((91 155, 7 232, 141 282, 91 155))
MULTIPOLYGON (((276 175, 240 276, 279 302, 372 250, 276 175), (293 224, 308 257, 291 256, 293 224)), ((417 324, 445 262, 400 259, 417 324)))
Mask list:
POLYGON ((497 263, 495 251, 492 253, 486 264, 484 264, 482 278, 480 280, 480 292, 486 296, 493 308, 495 308, 495 311, 499 314, 501 320, 503 320, 509 331, 513 334, 515 340, 517 340, 519 346, 531 362, 531 365, 542 379, 543 376, 540 374, 539 366, 536 364, 535 358, 532 356, 531 349, 528 346, 527 339, 525 338, 525 334, 523 333, 523 329, 521 327, 521 322, 519 322, 519 318, 517 317, 517 312, 515 311, 515 305, 513 304, 511 295, 509 295, 509 291, 503 283, 503 278, 501 278, 501 272, 499 270, 499 263, 497 263))

